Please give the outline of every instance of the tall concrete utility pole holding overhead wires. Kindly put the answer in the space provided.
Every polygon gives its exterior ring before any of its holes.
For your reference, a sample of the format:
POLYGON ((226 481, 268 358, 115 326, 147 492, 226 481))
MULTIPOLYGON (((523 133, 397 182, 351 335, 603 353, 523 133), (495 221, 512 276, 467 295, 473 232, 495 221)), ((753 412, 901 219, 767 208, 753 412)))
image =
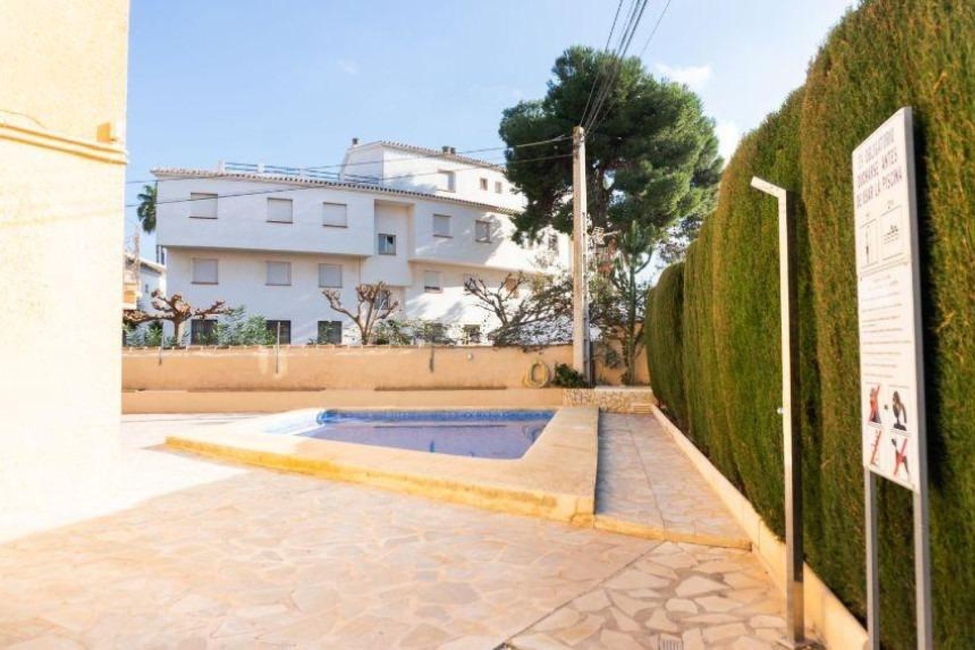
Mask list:
POLYGON ((586 135, 572 128, 572 367, 589 372, 589 305, 586 290, 586 135))

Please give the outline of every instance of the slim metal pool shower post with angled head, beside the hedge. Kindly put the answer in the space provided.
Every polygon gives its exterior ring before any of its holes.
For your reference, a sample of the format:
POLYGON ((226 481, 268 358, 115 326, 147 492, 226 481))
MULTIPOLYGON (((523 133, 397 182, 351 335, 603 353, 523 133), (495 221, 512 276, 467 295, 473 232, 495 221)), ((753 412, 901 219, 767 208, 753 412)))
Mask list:
POLYGON ((805 638, 802 585, 802 439, 800 436, 799 288, 796 274, 796 225, 789 193, 752 178, 752 187, 779 202, 779 303, 782 312, 782 438, 786 506, 786 628, 790 648, 814 645, 805 638), (794 407, 795 406, 795 407, 794 407))

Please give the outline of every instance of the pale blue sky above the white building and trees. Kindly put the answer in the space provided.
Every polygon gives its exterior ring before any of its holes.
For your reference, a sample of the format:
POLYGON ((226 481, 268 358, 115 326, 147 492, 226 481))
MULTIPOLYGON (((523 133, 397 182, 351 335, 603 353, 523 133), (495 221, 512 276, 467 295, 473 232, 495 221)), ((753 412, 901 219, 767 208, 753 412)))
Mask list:
MULTIPOLYGON (((632 54, 664 4, 650 0, 632 54)), ((727 152, 802 83, 849 4, 672 0, 643 61, 702 96, 727 152)), ((602 47, 615 9, 615 0, 134 0, 129 179, 218 160, 335 164, 353 136, 498 146, 501 111, 543 96, 567 46, 602 47)), ((129 203, 139 187, 129 185, 129 203)))

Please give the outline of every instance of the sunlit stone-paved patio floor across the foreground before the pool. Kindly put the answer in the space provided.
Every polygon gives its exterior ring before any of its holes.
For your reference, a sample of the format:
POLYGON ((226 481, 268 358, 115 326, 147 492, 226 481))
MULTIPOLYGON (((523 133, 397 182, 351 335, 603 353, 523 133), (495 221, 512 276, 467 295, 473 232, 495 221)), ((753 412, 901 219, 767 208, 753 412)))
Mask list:
POLYGON ((0 646, 742 650, 782 629, 751 554, 219 465, 156 447, 175 426, 207 422, 127 418, 124 510, 0 545, 0 646))

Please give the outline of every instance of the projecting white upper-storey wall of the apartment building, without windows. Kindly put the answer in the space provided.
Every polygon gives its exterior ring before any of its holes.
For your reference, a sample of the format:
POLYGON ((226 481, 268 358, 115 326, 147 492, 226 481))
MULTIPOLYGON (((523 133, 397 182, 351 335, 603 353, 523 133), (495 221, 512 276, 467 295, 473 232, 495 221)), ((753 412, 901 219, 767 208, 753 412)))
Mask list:
MULTIPOLYGON (((499 211, 369 188, 358 191, 221 177, 186 178, 166 172, 160 172, 159 176, 156 238, 161 246, 170 249, 253 249, 359 255, 370 257, 366 266, 367 282, 385 280, 394 286, 411 284, 408 260, 509 271, 536 270, 538 251, 525 249, 512 240, 514 225, 499 211), (189 201, 194 192, 220 197, 216 202, 217 218, 190 216, 196 205, 189 201), (292 199, 292 223, 267 221, 269 198, 292 199), (348 227, 322 224, 322 204, 325 202, 348 207, 348 227), (434 214, 451 217, 450 239, 433 236, 434 214), (495 224, 489 244, 475 241, 474 223, 478 219, 495 224), (375 257, 378 232, 398 236, 396 259, 375 257)), ((559 249, 559 259, 565 266, 569 244, 563 235, 560 235, 559 249)))

